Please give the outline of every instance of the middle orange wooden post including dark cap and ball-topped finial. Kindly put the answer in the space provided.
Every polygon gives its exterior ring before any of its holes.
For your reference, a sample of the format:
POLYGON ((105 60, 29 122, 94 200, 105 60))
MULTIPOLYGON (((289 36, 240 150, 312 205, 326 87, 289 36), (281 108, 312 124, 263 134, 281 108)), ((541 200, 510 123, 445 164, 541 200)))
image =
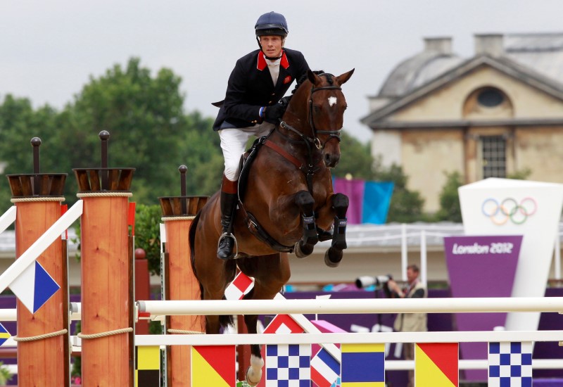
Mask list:
POLYGON ((108 168, 102 131, 101 168, 74 169, 81 218, 82 383, 134 383, 133 248, 127 216, 134 168, 108 168))

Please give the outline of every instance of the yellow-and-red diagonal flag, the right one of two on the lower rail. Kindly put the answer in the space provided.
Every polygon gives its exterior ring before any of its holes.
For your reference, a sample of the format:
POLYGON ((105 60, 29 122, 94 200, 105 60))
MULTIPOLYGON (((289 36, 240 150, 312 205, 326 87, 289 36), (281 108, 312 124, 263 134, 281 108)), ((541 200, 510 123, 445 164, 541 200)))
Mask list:
POLYGON ((459 386, 459 344, 415 344, 415 385, 417 387, 459 386))

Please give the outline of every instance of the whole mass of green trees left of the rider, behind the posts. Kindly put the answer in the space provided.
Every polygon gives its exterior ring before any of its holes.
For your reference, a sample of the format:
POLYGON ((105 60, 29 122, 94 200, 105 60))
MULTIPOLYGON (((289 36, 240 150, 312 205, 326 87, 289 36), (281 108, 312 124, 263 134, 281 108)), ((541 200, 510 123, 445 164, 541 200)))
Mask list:
MULTIPOLYGON (((0 105, 0 161, 4 174, 31 173, 32 137, 42 139, 41 172, 67 173, 65 198, 74 203, 72 168, 100 167, 99 132, 110 132, 109 167, 134 167, 134 201, 157 204, 179 195, 179 165, 189 167, 187 193, 209 195, 220 186, 222 156, 213 120, 184 114, 181 79, 171 70, 156 75, 132 58, 91 77, 62 111, 37 110, 28 99, 8 95, 0 105)), ((0 179, 0 206, 10 205, 7 179, 0 179)))

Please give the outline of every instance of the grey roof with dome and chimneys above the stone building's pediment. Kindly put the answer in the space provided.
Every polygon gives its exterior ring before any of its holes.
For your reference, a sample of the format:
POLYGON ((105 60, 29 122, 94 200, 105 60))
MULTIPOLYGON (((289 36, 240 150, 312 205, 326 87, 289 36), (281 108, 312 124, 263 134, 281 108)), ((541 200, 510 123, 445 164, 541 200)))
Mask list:
MULTIPOLYGON (((426 39, 427 40, 427 39, 426 39)), ((397 65, 384 82, 379 104, 362 122, 370 127, 386 125, 385 118, 429 92, 455 82, 480 65, 488 65, 563 100, 563 33, 476 35, 476 54, 462 59, 451 53, 450 38, 441 38, 445 49, 428 44, 397 65)), ((457 122, 467 125, 467 122, 457 122)), ((448 125, 455 126, 455 123, 448 125)))

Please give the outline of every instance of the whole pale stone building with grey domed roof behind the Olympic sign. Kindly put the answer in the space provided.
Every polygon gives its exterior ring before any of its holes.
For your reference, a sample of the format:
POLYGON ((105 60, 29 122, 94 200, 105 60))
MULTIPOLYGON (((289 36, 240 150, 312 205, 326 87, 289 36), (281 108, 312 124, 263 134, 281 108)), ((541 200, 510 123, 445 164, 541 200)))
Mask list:
POLYGON ((563 181, 563 33, 479 34, 460 58, 452 39, 424 39, 399 63, 362 122, 372 154, 403 166, 409 189, 438 210, 444 172, 464 182, 510 177, 563 181))

